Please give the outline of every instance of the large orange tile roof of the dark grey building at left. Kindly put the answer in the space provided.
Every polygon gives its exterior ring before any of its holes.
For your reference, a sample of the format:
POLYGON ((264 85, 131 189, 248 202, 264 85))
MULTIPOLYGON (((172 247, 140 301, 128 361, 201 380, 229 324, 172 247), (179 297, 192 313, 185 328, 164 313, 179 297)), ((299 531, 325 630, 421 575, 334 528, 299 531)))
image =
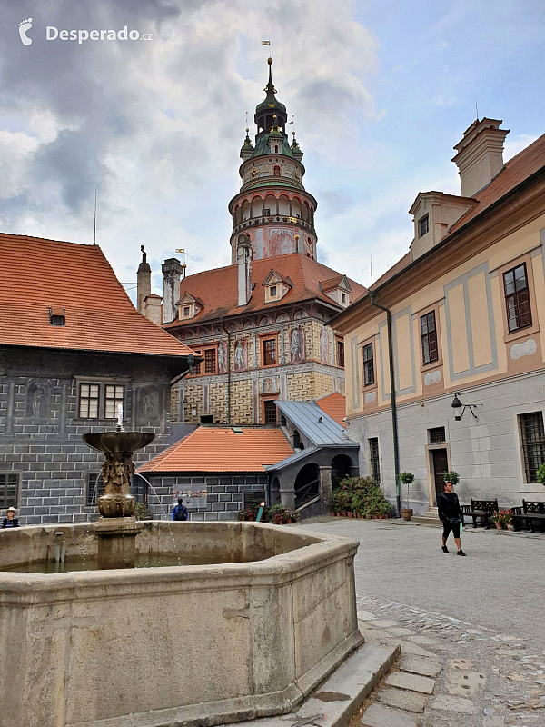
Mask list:
POLYGON ((0 344, 187 356, 139 314, 98 245, 0 233, 0 344), (51 325, 49 309, 64 309, 51 325))

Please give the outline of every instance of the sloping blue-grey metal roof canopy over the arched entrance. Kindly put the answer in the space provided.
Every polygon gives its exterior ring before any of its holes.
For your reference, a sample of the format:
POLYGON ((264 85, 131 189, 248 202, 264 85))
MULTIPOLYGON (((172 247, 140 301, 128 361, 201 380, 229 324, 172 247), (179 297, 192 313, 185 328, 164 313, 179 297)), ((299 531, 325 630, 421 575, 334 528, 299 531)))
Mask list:
POLYGON ((314 402, 274 402, 300 434, 304 434, 314 446, 357 447, 341 424, 335 422, 314 402))

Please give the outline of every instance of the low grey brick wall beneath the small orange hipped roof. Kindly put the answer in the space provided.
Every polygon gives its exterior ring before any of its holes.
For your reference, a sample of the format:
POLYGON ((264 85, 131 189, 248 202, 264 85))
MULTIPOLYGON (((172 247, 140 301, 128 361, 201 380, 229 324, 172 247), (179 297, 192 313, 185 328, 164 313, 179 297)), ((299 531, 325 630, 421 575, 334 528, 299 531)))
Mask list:
POLYGON ((154 519, 171 517, 179 493, 190 520, 238 520, 244 493, 267 493, 269 483, 265 473, 145 473, 144 476, 152 485, 148 510, 154 519), (194 497, 189 494, 192 491, 206 494, 194 497))

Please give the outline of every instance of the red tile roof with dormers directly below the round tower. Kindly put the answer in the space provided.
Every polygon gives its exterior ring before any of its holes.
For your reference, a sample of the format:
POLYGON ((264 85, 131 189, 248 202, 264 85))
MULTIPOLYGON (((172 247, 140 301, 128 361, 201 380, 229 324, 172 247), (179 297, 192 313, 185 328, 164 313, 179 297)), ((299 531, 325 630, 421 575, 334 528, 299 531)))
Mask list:
MULTIPOLYGON (((331 280, 333 275, 341 279, 341 275, 331 268, 299 253, 254 260, 252 263, 252 282, 255 285, 253 286, 252 298, 247 305, 241 308, 238 307, 236 265, 189 275, 181 281, 180 297, 184 293, 199 297, 204 303, 204 308, 188 321, 176 320, 172 324, 166 324, 165 327, 176 327, 193 324, 194 321, 211 320, 220 316, 260 311, 279 305, 312 300, 313 298, 318 298, 332 305, 334 304, 332 299, 320 290, 320 283, 331 280), (293 287, 283 296, 282 300, 265 304, 263 281, 271 270, 284 278, 290 278, 293 287)), ((352 287, 350 296, 352 303, 365 293, 365 288, 353 280, 350 280, 350 284, 352 287)))

